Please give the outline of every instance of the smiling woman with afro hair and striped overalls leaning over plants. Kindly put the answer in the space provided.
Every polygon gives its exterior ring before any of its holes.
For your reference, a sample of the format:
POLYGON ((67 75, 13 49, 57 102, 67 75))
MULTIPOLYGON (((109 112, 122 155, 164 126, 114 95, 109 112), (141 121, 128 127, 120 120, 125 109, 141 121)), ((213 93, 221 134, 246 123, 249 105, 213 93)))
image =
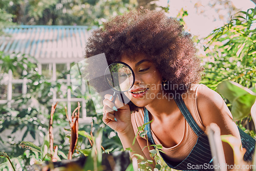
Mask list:
MULTIPOLYGON (((118 133, 123 148, 151 159, 146 137, 137 135, 137 127, 146 125, 150 145, 162 144, 162 154, 169 167, 175 169, 212 170, 206 126, 216 123, 221 135, 247 139, 245 160, 251 160, 255 142, 240 132, 232 121, 221 96, 198 84, 203 67, 196 57, 190 34, 183 26, 163 12, 146 9, 132 11, 113 18, 103 28, 93 32, 88 40, 86 56, 105 53, 108 63, 127 63, 135 73, 134 86, 123 104, 106 94, 103 100, 103 122, 118 133), (132 114, 131 114, 132 113, 132 114), (205 166, 202 168, 202 166, 205 166)), ((240 142, 241 143, 241 142, 240 142)), ((226 163, 233 164, 233 152, 223 143, 226 163)), ((153 147, 151 147, 153 149, 153 147)))

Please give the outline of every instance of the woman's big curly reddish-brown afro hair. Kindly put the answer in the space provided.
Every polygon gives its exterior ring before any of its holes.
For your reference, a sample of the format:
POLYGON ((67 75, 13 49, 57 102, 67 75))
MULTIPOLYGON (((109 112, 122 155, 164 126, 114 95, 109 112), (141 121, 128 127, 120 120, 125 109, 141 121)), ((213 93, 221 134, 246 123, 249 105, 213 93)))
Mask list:
MULTIPOLYGON (((109 64, 120 61, 122 55, 134 60, 136 54, 144 54, 167 82, 166 93, 186 93, 191 84, 199 83, 203 71, 191 35, 183 25, 164 12, 144 8, 112 18, 93 31, 86 58, 100 53, 105 53, 109 64)), ((138 110, 132 103, 130 108, 138 110)))

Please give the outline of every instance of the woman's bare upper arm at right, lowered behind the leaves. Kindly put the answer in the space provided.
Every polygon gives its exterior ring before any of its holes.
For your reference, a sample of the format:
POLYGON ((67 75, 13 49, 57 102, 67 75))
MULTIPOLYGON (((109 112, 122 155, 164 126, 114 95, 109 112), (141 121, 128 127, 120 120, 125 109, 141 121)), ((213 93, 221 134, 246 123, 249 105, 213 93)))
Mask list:
MULTIPOLYGON (((199 86, 197 95, 197 105, 203 125, 206 127, 212 122, 216 123, 220 127, 221 135, 232 135, 241 139, 238 127, 236 123, 233 122, 232 115, 222 97, 206 86, 199 86)), ((239 143, 241 143, 241 140, 239 143)), ((226 142, 222 144, 226 163, 233 165, 232 148, 226 142)))

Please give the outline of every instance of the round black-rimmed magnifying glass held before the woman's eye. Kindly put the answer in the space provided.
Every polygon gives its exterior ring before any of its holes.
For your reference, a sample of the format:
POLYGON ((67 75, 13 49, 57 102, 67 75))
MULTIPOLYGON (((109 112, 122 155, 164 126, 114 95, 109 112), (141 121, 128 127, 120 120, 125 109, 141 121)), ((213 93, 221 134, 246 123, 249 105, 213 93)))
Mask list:
POLYGON ((126 63, 114 62, 106 68, 105 80, 108 86, 114 91, 114 100, 117 93, 119 93, 124 102, 121 93, 126 92, 133 87, 135 75, 132 68, 126 63))

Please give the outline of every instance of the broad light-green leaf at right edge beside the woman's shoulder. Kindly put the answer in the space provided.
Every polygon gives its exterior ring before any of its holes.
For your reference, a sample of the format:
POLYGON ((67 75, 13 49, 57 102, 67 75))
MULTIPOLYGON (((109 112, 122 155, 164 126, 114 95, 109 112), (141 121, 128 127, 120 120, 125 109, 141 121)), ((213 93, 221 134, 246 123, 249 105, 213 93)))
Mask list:
POLYGON ((239 83, 226 80, 218 85, 217 91, 231 102, 233 120, 241 120, 250 114, 256 99, 256 93, 252 90, 239 83))

